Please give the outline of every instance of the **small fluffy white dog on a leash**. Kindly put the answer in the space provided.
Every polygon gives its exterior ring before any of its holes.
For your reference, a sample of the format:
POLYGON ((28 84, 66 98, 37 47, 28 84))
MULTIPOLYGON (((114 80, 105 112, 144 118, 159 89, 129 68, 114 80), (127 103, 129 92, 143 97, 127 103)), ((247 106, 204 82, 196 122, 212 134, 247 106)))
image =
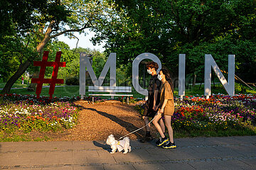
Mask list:
POLYGON ((131 152, 131 146, 129 145, 129 137, 124 137, 123 140, 115 140, 114 139, 114 135, 109 135, 107 137, 107 141, 106 141, 107 145, 110 145, 112 151, 110 152, 110 154, 114 154, 114 152, 118 151, 121 152, 122 150, 124 150, 124 154, 127 154, 127 152, 131 152))

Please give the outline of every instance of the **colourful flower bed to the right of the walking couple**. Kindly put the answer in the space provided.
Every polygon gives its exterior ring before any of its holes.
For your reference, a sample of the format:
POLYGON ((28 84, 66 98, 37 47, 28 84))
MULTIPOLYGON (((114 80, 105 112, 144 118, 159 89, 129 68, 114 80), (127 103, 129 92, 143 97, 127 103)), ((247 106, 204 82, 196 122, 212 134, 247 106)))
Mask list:
MULTIPOLYGON (((218 94, 209 99, 186 96, 183 101, 174 98, 174 103, 172 123, 176 131, 202 135, 209 131, 247 130, 246 135, 256 135, 256 95, 218 94)), ((136 106, 140 113, 143 107, 142 104, 136 106)))

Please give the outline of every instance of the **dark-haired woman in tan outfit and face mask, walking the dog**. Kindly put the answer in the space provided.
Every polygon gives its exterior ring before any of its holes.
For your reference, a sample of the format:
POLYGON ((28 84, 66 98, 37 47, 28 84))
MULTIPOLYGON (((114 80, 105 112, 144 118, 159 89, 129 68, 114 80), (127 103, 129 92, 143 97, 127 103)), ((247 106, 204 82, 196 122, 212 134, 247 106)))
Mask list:
POLYGON ((160 88, 160 103, 157 106, 159 108, 158 114, 153 120, 153 124, 156 130, 159 132, 161 137, 156 141, 157 146, 162 146, 163 148, 176 148, 174 144, 174 132, 171 128, 171 116, 174 115, 174 92, 173 84, 171 82, 170 74, 166 69, 161 69, 158 75, 161 81, 160 88), (164 124, 168 130, 169 139, 164 135, 161 126, 159 125, 159 120, 161 120, 164 115, 164 124))

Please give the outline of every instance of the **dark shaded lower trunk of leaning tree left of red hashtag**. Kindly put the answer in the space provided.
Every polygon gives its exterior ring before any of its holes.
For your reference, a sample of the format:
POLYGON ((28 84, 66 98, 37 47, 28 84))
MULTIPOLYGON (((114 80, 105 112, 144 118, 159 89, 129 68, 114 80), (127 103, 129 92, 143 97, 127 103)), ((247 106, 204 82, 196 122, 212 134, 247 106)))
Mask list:
POLYGON ((31 62, 26 60, 26 62, 22 63, 18 70, 14 73, 14 75, 7 81, 6 85, 4 86, 4 89, 1 91, 2 94, 9 94, 11 91, 11 87, 14 85, 14 83, 17 81, 21 75, 26 72, 26 69, 28 69, 31 62))

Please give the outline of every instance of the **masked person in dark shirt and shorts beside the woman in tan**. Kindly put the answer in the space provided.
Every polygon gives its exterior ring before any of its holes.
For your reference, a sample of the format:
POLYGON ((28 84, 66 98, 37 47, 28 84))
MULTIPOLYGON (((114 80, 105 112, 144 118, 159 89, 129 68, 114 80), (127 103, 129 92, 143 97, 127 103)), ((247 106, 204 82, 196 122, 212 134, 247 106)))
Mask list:
MULTIPOLYGON (((151 74, 151 79, 149 80, 149 88, 148 88, 148 100, 146 101, 146 107, 144 110, 144 114, 142 118, 144 119, 144 123, 146 125, 146 135, 140 142, 149 142, 152 140, 150 134, 150 124, 149 119, 154 118, 156 115, 156 106, 159 105, 160 102, 160 86, 161 81, 157 78, 156 70, 159 68, 156 62, 149 62, 146 64, 147 72, 151 74)), ((163 128, 163 132, 165 132, 164 122, 163 120, 159 120, 159 124, 163 128)))

